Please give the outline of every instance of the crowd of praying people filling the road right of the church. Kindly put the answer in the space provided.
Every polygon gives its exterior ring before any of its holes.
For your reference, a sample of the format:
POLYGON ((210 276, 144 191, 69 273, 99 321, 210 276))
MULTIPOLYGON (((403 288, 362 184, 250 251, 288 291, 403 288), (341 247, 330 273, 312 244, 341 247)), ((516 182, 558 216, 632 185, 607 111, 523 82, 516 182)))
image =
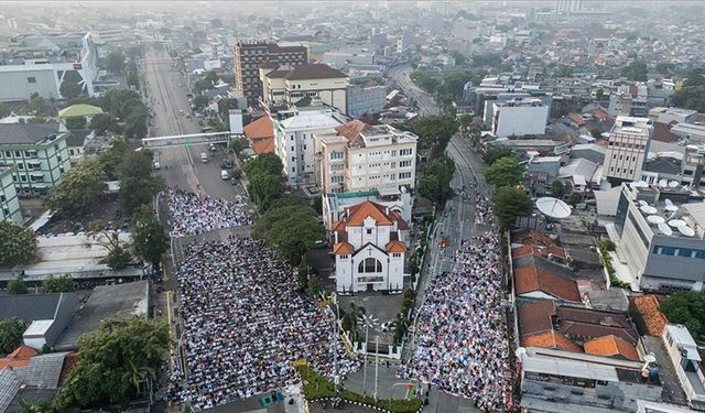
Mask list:
MULTIPOLYGON (((491 224, 479 197, 476 222, 491 224)), ((399 376, 433 383, 477 407, 511 407, 509 343, 502 318, 501 250, 496 231, 474 237, 455 256, 449 273, 436 274, 416 325, 416 347, 399 376)))

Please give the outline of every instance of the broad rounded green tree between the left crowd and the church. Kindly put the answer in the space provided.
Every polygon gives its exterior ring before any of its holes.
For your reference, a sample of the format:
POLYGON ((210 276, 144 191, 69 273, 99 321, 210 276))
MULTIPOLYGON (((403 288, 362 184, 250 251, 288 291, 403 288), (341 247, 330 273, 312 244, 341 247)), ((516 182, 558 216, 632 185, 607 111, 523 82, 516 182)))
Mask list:
POLYGON ((292 196, 274 200, 252 228, 257 238, 264 239, 293 267, 299 265, 306 250, 324 239, 325 232, 316 213, 292 196))

